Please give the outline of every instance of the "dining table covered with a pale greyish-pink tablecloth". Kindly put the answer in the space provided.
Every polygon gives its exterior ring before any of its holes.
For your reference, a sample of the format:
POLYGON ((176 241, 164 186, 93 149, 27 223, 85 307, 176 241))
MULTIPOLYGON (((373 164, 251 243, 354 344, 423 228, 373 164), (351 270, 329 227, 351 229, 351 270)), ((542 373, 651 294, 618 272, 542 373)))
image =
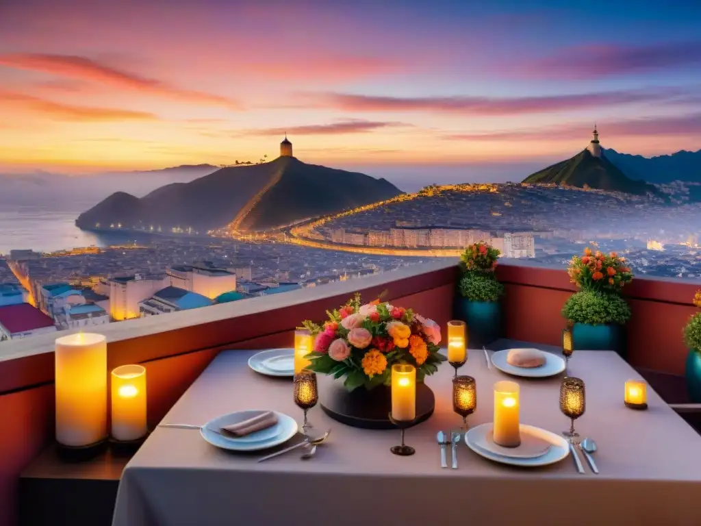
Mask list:
MULTIPOLYGON (((558 353, 503 339, 489 355, 522 347, 558 353)), ((251 409, 301 422, 292 379, 248 367, 257 352, 220 352, 162 423, 203 425, 251 409)), ((347 426, 320 405, 309 411, 309 421, 316 433, 331 433, 308 460, 295 450, 257 462, 266 451, 226 451, 196 429, 157 426, 123 471, 113 526, 698 524, 701 436, 653 389, 647 410, 626 407, 625 382, 639 375, 613 351, 575 351, 568 373, 585 382, 586 409, 576 430, 595 440, 599 474, 583 457, 586 471, 578 473, 571 455, 538 468, 508 466, 475 454, 464 440, 457 447, 458 468, 442 468, 437 432, 462 424, 452 406, 454 370, 444 363, 426 377, 435 394, 433 415, 406 430, 407 445, 416 450, 409 457, 390 452, 400 431, 347 426)), ((459 374, 477 382, 470 428, 493 421, 494 384, 510 379, 520 387, 522 424, 557 434, 569 429, 559 409, 564 373, 510 376, 488 367, 483 349, 470 349, 459 374)))

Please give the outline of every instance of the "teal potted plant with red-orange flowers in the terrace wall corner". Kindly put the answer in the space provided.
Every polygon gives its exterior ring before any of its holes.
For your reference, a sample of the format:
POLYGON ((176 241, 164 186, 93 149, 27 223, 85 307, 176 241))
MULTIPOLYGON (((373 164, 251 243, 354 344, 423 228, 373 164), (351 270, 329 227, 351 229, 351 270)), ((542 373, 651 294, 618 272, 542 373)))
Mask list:
POLYGON ((494 270, 501 252, 480 241, 461 255, 463 276, 458 281, 454 316, 468 325, 469 343, 482 346, 501 337, 501 304, 504 285, 494 270))

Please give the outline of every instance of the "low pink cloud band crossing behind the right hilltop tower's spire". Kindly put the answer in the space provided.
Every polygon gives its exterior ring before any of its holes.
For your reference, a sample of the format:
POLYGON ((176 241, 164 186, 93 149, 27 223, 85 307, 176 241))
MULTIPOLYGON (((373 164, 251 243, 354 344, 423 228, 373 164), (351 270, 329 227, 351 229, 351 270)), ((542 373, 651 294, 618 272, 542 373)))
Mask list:
MULTIPOLYGON (((586 140, 590 137, 591 125, 564 123, 543 128, 500 130, 488 133, 454 133, 444 135, 445 140, 458 141, 529 141, 537 140, 586 140)), ((600 123, 602 142, 606 137, 701 135, 701 113, 683 116, 659 116, 648 119, 627 119, 600 123)))

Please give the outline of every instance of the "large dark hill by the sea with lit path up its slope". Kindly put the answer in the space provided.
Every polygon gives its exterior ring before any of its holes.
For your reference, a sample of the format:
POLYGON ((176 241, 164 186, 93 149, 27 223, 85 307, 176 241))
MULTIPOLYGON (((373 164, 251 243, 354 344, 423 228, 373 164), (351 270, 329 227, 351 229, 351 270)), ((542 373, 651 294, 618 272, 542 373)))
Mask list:
POLYGON ((168 184, 140 199, 117 192, 82 213, 76 224, 83 229, 121 224, 125 229, 154 225, 205 231, 234 222, 241 231, 261 231, 401 193, 384 179, 278 157, 168 184))

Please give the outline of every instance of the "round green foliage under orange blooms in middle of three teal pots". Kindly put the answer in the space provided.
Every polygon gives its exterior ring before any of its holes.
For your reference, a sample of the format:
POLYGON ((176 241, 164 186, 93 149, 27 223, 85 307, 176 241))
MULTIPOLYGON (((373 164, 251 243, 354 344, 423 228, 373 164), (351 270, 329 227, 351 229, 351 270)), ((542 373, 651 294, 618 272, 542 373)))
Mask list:
POLYGON ((567 300, 562 308, 562 316, 572 323, 622 325, 630 318, 630 307, 618 295, 583 290, 567 300))

